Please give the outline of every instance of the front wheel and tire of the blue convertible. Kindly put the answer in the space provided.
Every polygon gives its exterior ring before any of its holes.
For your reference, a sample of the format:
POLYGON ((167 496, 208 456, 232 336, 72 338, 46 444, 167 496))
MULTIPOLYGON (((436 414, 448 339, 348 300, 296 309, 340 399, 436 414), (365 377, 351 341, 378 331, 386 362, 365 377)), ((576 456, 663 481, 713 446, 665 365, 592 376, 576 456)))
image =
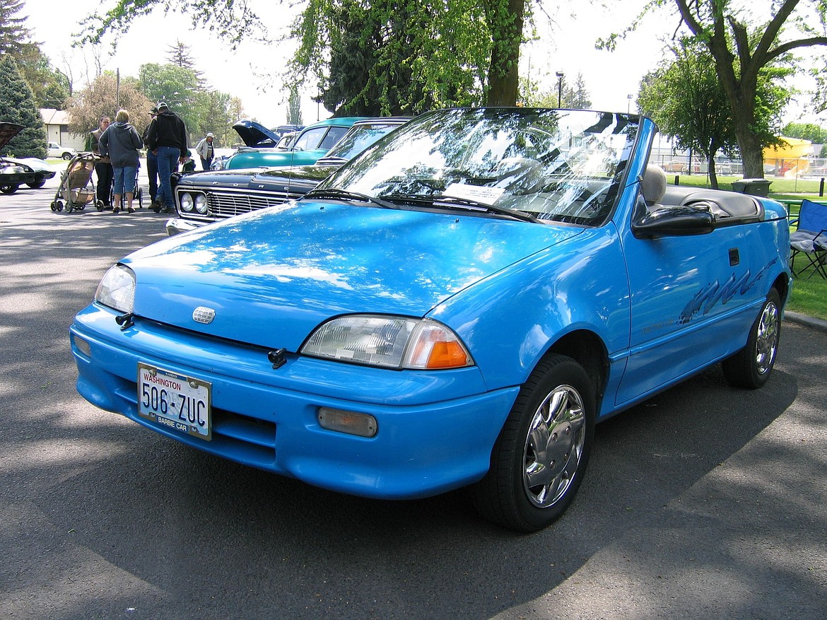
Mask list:
POLYGON ((537 532, 571 505, 595 432, 595 387, 566 355, 543 360, 519 391, 471 498, 486 518, 537 532))

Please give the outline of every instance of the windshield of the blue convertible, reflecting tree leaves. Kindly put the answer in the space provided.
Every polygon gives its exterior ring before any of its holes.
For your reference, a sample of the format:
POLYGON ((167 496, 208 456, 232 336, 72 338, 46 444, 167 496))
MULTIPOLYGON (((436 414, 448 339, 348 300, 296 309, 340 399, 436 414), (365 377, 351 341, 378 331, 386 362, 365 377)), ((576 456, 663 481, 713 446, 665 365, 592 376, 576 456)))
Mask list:
POLYGON ((605 222, 637 117, 522 107, 430 112, 357 156, 319 188, 395 204, 605 222))

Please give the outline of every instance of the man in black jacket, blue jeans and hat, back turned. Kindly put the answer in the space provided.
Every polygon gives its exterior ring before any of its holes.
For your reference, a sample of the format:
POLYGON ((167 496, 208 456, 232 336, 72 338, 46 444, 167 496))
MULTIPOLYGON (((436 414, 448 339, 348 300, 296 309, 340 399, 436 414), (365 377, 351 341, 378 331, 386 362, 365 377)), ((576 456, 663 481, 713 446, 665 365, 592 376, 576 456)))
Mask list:
POLYGON ((158 103, 158 116, 146 132, 146 148, 158 158, 158 193, 152 207, 162 208, 167 213, 175 212, 175 203, 170 185, 177 159, 181 164, 187 155, 187 127, 165 102, 158 103))

